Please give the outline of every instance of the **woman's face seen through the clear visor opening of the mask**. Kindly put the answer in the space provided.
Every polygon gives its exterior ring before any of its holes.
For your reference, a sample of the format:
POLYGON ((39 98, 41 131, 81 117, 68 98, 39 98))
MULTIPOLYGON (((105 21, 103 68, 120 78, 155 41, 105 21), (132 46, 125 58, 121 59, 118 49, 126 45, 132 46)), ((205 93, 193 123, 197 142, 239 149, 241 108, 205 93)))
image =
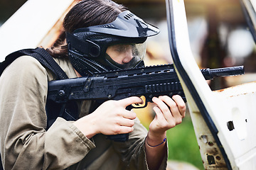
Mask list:
POLYGON ((111 45, 107 47, 106 53, 118 64, 127 64, 133 58, 132 45, 129 44, 111 45))

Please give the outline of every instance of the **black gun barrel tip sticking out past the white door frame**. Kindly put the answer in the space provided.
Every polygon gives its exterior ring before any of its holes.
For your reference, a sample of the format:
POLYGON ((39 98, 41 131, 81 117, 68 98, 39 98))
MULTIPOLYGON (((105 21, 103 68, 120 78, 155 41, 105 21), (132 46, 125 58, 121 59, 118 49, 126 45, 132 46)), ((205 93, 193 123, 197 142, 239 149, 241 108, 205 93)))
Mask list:
POLYGON ((215 77, 228 77, 245 74, 243 66, 225 67, 219 69, 201 69, 203 76, 206 79, 213 79, 215 77))

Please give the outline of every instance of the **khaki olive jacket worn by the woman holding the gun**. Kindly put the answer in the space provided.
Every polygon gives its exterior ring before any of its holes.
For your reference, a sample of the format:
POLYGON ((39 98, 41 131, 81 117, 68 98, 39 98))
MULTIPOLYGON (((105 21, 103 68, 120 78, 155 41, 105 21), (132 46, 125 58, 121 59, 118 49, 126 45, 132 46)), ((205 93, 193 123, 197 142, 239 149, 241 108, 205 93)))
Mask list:
MULTIPOLYGON (((69 78, 76 77, 69 60, 55 59, 69 78)), ((16 59, 0 77, 0 143, 4 169, 148 169, 146 129, 136 121, 128 142, 104 135, 87 139, 72 122, 58 118, 46 131, 48 81, 53 75, 36 59, 16 59)), ((80 115, 90 102, 83 102, 80 115)), ((166 169, 166 157, 160 169, 166 169)))

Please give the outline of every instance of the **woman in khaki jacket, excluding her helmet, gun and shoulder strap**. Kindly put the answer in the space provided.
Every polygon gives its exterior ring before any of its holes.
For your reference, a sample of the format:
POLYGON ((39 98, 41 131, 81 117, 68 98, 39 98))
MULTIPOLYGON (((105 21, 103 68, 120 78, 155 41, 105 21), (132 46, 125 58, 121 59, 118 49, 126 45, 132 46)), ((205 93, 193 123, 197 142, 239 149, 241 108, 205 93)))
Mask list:
MULTIPOLYGON (((80 1, 65 16, 65 33, 112 23, 126 10, 109 0, 80 1)), ((77 50, 69 40, 68 44, 63 34, 48 52, 69 78, 88 74, 75 65, 77 50)), ((110 45, 105 52, 108 60, 104 61, 122 67, 134 58, 131 49, 131 43, 110 45)), ((58 118, 46 130, 48 81, 53 79, 52 72, 28 56, 16 59, 1 75, 0 141, 4 169, 166 169, 166 130, 181 123, 185 116, 181 96, 153 98, 156 116, 149 132, 135 113, 125 109, 142 103, 138 97, 106 101, 99 107, 95 101, 83 101, 78 103, 80 119, 71 122, 58 118), (127 142, 105 137, 124 133, 129 133, 127 142)))

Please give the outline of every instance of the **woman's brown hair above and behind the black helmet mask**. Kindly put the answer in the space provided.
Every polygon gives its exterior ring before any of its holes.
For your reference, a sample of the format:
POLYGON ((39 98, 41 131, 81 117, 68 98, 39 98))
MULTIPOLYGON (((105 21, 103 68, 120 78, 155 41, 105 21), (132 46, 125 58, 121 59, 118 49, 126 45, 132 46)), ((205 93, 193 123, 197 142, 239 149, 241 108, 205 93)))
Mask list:
POLYGON ((111 0, 82 0, 67 13, 63 20, 63 33, 47 51, 53 57, 68 56, 65 32, 73 33, 78 28, 97 26, 113 22, 119 13, 127 10, 111 0))

